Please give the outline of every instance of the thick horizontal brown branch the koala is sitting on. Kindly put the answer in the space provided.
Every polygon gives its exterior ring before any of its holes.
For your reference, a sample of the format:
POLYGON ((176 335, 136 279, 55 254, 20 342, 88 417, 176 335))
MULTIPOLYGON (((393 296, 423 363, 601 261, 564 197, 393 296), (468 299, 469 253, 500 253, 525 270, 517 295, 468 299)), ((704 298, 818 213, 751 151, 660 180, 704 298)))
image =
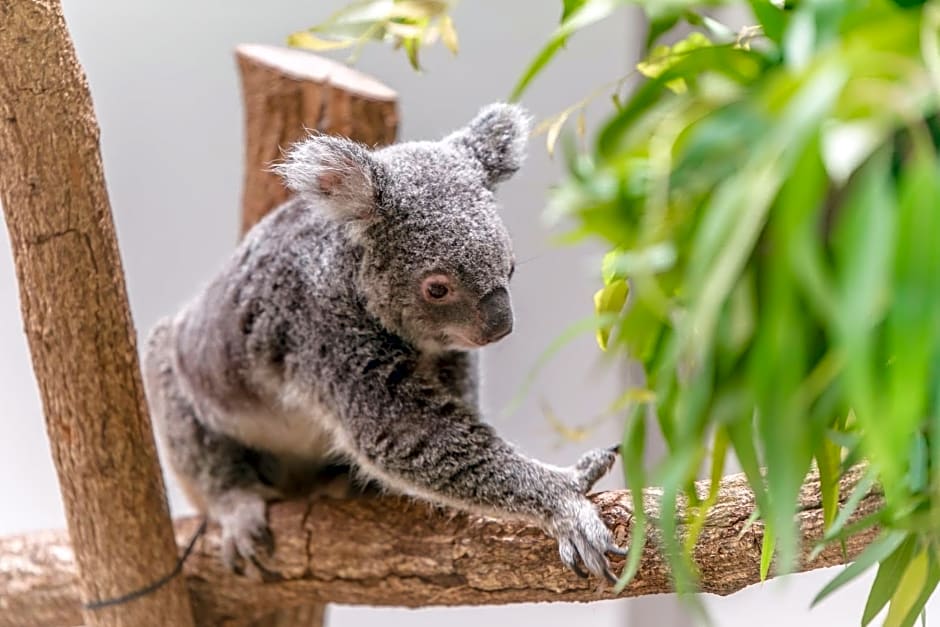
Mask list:
MULTIPOLYGON (((843 479, 843 495, 860 473, 856 469, 843 479)), ((632 518, 629 492, 592 498, 617 540, 626 544, 632 518)), ((648 490, 645 500, 655 516, 658 490, 648 490)), ((856 518, 881 503, 880 494, 869 494, 856 518)), ((754 496, 744 476, 723 479, 695 549, 704 592, 727 595, 759 581, 763 525, 748 524, 753 511, 754 496)), ((845 554, 833 546, 809 560, 809 549, 823 530, 814 475, 801 492, 798 516, 806 547, 800 570, 841 564, 845 556, 852 559, 876 533, 868 530, 850 538, 845 554)), ((197 542, 185 573, 200 623, 224 624, 311 602, 419 607, 614 597, 608 587, 567 571, 554 540, 525 523, 442 511, 395 497, 280 503, 271 508, 270 519, 277 549, 260 576, 226 572, 218 559, 217 529, 210 527, 197 542)), ((180 544, 198 524, 195 519, 177 521, 180 544)), ((648 546, 639 574, 622 596, 670 589, 664 558, 648 546)), ((0 626, 75 625, 81 620, 78 606, 75 564, 64 532, 0 540, 0 626)))

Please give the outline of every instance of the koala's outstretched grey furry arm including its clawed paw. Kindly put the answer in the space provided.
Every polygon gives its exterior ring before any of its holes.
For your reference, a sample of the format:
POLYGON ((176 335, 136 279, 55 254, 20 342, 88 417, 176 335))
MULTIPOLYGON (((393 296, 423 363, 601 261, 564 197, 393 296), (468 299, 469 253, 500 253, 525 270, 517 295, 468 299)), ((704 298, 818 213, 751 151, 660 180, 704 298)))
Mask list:
POLYGON ((526 457, 482 422, 477 409, 407 359, 345 386, 342 445, 386 485, 481 513, 541 524, 575 572, 616 580, 605 553, 623 554, 584 494, 612 465, 606 450, 559 468, 526 457))

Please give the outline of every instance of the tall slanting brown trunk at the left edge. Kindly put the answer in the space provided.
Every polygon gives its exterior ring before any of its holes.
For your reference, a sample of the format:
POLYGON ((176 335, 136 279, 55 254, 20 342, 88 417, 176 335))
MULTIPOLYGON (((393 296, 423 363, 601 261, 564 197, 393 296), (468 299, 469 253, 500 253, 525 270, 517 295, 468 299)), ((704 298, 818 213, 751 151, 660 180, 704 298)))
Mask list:
MULTIPOLYGON (((16 624, 54 616, 58 609, 41 601, 59 598, 58 586, 60 593, 68 590, 74 623, 80 599, 117 597, 170 572, 176 544, 144 404, 98 125, 55 0, 0 3, 0 198, 81 575, 79 591, 66 536, 46 536, 57 544, 47 546, 43 563, 58 564, 47 573, 48 588, 30 592, 26 575, 5 579, 0 620, 10 620, 4 606, 16 590, 39 595, 16 624)), ((0 556, 7 566, 17 559, 0 556)), ((87 611, 84 620, 193 624, 182 578, 132 602, 87 611)))

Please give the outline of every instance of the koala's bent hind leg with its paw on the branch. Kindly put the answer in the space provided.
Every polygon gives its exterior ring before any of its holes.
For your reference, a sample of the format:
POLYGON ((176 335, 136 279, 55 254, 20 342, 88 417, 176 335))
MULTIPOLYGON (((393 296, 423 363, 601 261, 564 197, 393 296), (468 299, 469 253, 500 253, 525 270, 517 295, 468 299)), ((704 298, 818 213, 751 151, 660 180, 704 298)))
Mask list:
POLYGON ((143 370, 151 417, 187 496, 222 528, 222 559, 243 572, 246 560, 256 561, 274 548, 266 502, 277 496, 269 479, 277 459, 203 425, 179 385, 170 337, 169 324, 162 322, 148 342, 143 370))

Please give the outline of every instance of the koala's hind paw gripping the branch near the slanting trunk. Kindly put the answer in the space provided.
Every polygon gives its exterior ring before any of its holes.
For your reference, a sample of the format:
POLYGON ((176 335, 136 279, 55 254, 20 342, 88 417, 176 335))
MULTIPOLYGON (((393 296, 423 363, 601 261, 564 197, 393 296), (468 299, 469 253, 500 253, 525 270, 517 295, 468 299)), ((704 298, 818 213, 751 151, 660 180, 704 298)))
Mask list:
POLYGON ((222 561, 232 572, 245 572, 245 562, 261 567, 259 557, 274 552, 274 535, 268 527, 264 499, 256 494, 227 494, 213 504, 212 517, 222 527, 222 561))

